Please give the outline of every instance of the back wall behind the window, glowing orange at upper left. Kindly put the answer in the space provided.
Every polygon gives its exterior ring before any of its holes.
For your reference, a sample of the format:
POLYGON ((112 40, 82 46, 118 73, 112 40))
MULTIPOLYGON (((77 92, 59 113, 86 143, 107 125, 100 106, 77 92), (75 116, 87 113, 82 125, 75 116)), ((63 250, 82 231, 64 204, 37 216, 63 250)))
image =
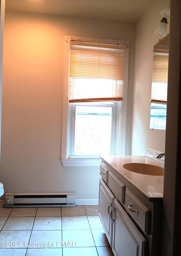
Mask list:
MULTIPOLYGON (((130 41, 130 138, 135 24, 6 12, 1 132, 5 192, 76 192, 78 199, 98 198, 99 167, 61 164, 65 35, 130 41)), ((128 140, 128 151, 129 146, 128 140)))

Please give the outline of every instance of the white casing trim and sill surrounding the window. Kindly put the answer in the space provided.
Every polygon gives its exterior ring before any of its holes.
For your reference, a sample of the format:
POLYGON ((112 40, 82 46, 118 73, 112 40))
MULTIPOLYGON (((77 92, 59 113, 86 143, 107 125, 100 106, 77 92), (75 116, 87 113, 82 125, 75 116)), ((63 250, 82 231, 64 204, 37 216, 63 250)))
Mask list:
MULTIPOLYGON (((70 158, 70 133, 72 132, 72 109, 69 107, 68 100, 68 78, 70 66, 70 40, 72 36, 65 36, 65 50, 64 50, 64 89, 63 89, 63 125, 62 125, 62 149, 61 161, 63 166, 99 166, 100 158, 86 158, 83 156, 70 158)), ((129 58, 129 42, 120 40, 98 39, 98 38, 83 38, 74 37, 74 40, 82 40, 85 42, 95 42, 103 44, 117 44, 126 43, 127 49, 125 53, 125 69, 124 69, 124 95, 122 102, 116 102, 116 116, 115 116, 115 134, 114 134, 114 152, 111 154, 125 155, 126 146, 126 109, 127 109, 127 90, 128 90, 128 58, 129 58)))

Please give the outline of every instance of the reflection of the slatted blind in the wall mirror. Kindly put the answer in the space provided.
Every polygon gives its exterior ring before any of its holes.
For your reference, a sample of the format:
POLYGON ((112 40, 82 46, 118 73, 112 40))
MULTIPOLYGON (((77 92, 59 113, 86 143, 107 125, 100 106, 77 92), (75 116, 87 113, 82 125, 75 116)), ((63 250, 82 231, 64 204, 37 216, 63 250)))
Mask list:
POLYGON ((167 104, 169 50, 154 49, 151 102, 167 104))

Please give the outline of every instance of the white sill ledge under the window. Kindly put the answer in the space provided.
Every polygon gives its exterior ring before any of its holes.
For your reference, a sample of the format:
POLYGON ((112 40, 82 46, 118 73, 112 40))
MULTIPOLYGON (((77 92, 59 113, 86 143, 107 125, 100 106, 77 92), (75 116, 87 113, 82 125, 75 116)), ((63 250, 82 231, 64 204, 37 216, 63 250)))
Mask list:
POLYGON ((99 166, 101 159, 68 158, 61 159, 63 166, 99 166))

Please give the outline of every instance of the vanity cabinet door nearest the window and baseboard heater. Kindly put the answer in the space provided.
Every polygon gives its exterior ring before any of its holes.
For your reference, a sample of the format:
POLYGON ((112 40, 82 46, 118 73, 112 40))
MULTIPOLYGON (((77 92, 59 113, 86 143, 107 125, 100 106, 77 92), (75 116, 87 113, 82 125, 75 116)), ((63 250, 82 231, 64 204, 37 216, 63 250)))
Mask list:
POLYGON ((112 230, 113 230, 113 221, 110 218, 110 212, 113 210, 114 196, 104 184, 102 179, 99 179, 99 208, 98 214, 103 225, 105 234, 109 241, 109 244, 112 244, 112 230))

